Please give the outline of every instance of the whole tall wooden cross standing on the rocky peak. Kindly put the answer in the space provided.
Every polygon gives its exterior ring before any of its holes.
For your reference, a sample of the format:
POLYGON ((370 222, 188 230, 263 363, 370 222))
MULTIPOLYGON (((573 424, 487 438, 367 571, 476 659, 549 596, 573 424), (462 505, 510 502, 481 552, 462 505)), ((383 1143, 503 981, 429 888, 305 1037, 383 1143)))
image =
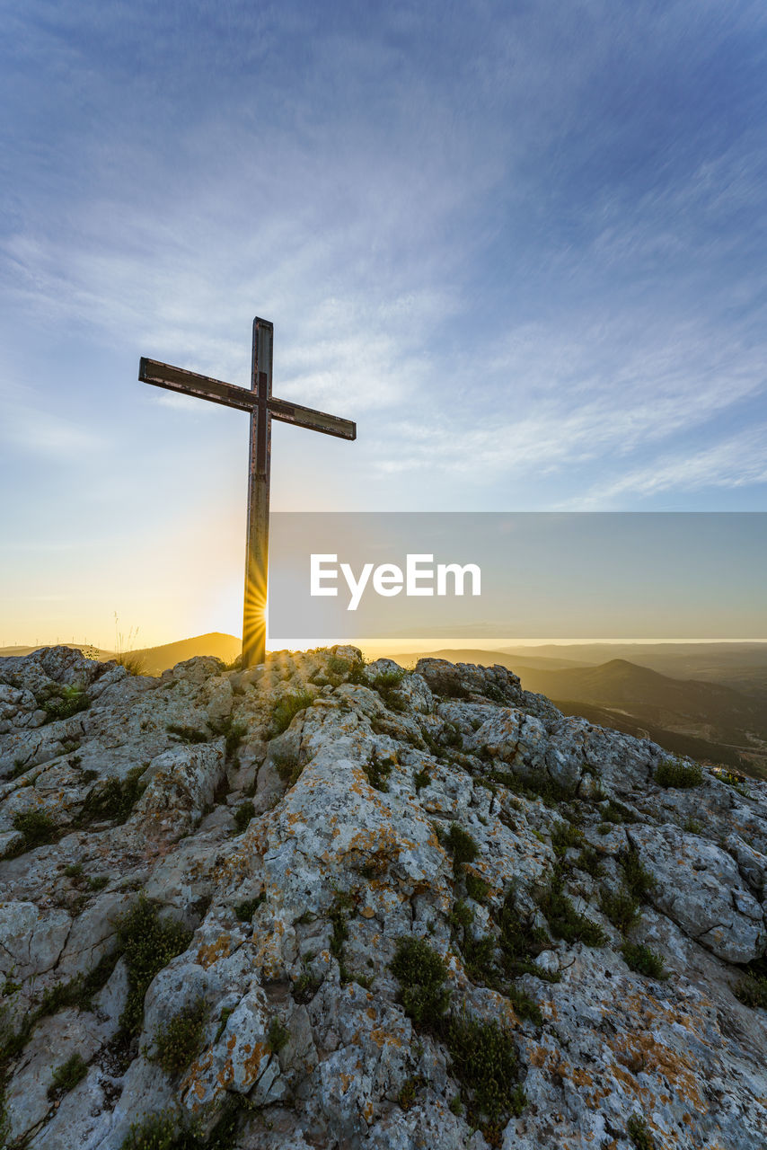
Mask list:
POLYGON ((271 421, 322 431, 339 439, 355 439, 356 424, 336 415, 315 412, 271 394, 271 347, 274 323, 253 321, 251 389, 239 388, 207 375, 185 371, 169 363, 141 356, 138 377, 169 391, 209 399, 251 416, 251 450, 247 486, 247 542, 245 554, 245 608, 243 612, 243 666, 254 667, 266 659, 267 581, 269 554, 269 473, 271 469, 271 421))

